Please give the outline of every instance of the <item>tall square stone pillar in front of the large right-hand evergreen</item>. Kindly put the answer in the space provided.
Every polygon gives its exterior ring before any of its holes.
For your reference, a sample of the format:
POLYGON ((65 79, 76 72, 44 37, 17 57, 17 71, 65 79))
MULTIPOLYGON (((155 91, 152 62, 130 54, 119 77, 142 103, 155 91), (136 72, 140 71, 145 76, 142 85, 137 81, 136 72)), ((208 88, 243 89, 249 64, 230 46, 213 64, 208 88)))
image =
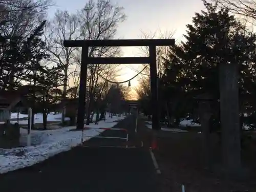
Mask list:
POLYGON ((237 63, 219 66, 223 166, 228 173, 241 170, 239 84, 237 63))

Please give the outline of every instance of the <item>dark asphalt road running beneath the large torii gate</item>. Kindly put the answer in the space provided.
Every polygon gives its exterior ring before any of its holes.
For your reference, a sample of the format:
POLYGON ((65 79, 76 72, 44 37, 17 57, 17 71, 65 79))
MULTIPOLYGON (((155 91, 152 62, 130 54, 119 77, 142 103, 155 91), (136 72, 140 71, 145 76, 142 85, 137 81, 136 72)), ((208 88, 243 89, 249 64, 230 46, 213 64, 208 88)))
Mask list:
MULTIPOLYGON (((115 127, 129 130, 132 139, 135 115, 115 127)), ((113 131, 102 135, 125 136, 113 131)), ((156 170, 146 147, 95 147, 100 144, 118 146, 122 142, 93 138, 84 143, 93 147, 75 147, 42 163, 0 175, 0 191, 158 191, 156 170)))

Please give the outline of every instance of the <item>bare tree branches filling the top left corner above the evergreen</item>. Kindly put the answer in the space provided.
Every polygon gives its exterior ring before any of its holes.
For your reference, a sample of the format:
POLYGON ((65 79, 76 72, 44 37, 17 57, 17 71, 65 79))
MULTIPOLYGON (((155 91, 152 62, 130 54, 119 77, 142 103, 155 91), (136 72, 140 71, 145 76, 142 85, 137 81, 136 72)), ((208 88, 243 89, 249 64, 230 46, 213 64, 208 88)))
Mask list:
POLYGON ((0 0, 1 35, 28 37, 52 5, 51 0, 0 0))

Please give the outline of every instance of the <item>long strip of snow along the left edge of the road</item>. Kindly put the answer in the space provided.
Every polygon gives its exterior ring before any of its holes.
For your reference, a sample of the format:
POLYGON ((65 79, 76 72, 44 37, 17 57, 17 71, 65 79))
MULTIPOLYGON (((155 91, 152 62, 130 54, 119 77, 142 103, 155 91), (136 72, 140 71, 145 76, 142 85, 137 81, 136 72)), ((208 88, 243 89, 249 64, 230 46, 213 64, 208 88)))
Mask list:
MULTIPOLYGON (((117 122, 114 121, 124 118, 125 116, 113 116, 113 118, 107 117, 106 121, 99 121, 99 124, 97 125, 93 123, 90 125, 84 125, 84 127, 90 127, 91 129, 84 130, 83 140, 89 140, 103 132, 103 130, 95 128, 110 128, 117 124, 117 122)), ((81 143, 82 131, 70 131, 72 129, 75 129, 75 126, 63 127, 58 130, 32 130, 32 146, 0 149, 0 174, 31 166, 79 145, 81 143)), ((27 130, 20 128, 20 134, 20 142, 25 144, 27 141, 27 130)))

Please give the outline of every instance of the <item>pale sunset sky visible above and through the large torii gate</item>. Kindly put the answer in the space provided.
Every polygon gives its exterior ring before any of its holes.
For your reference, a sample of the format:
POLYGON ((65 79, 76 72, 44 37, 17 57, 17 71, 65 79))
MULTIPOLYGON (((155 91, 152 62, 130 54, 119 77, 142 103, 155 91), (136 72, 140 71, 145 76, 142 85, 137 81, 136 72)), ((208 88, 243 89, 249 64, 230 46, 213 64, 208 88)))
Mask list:
MULTIPOLYGON (((81 9, 87 0, 63 1, 55 0, 56 6, 52 7, 49 16, 53 16, 56 9, 67 10, 75 13, 81 9)), ((186 24, 191 23, 195 12, 204 9, 201 0, 112 0, 124 8, 127 15, 125 22, 119 25, 116 38, 133 39, 141 38, 142 32, 153 34, 156 31, 165 33, 175 32, 173 38, 180 41, 185 33, 186 24)), ((136 47, 122 48, 122 56, 141 56, 140 49, 136 47)), ((117 80, 130 79, 141 66, 124 66, 117 80)), ((132 87, 138 85, 138 78, 131 81, 132 87)))

